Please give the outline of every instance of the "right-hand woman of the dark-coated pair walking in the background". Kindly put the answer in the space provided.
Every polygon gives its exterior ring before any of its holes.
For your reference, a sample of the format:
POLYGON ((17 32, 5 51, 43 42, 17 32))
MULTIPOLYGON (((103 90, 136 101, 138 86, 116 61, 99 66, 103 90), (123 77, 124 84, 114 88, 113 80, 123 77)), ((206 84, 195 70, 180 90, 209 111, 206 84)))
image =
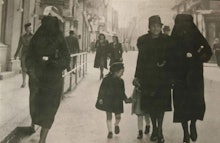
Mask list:
POLYGON ((114 62, 122 62, 122 45, 118 41, 117 36, 112 37, 113 42, 110 43, 110 65, 114 62))

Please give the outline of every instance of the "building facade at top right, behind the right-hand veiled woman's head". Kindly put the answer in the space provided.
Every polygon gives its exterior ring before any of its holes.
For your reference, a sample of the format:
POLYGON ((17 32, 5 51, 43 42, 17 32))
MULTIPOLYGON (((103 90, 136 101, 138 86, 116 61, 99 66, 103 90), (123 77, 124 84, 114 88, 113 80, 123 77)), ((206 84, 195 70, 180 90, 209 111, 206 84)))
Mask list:
POLYGON ((193 15, 194 22, 210 45, 220 37, 219 0, 176 0, 173 10, 193 15))

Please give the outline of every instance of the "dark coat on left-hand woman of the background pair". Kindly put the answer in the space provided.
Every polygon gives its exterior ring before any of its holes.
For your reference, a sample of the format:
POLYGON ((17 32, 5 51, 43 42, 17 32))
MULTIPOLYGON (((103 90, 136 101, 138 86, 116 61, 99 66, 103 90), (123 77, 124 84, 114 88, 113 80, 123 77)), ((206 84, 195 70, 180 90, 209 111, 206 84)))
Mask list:
POLYGON ((99 40, 96 42, 96 55, 95 55, 95 68, 106 68, 107 69, 107 57, 109 55, 109 43, 105 40, 104 43, 100 43, 99 40))

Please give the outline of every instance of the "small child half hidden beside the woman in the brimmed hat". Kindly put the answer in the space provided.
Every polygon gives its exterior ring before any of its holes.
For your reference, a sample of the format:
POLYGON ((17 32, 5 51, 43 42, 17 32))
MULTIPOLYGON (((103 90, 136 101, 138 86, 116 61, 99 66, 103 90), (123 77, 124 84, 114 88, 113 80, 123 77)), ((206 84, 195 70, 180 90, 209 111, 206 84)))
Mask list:
POLYGON ((137 79, 134 79, 133 85, 135 86, 133 94, 132 94, 132 114, 137 115, 137 123, 138 123, 138 136, 137 139, 143 138, 143 120, 145 119, 146 126, 144 134, 148 134, 150 132, 150 115, 144 113, 141 110, 141 91, 139 89, 140 84, 137 79))

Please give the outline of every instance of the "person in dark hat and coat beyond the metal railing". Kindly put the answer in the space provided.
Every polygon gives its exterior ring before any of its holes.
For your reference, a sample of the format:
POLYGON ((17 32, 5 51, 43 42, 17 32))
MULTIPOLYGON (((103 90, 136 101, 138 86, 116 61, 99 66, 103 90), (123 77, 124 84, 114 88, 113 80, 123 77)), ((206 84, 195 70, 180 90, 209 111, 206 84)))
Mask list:
MULTIPOLYGON (((78 38, 75 37, 73 30, 70 30, 69 36, 65 37, 65 39, 66 39, 67 47, 69 48, 70 54, 79 53, 80 51, 79 41, 78 41, 78 38)), ((68 70, 72 70, 73 68, 75 68, 76 62, 77 62, 77 56, 72 57, 72 59, 70 60, 70 67, 68 70)), ((72 73, 75 73, 75 72, 73 71, 72 73)))

